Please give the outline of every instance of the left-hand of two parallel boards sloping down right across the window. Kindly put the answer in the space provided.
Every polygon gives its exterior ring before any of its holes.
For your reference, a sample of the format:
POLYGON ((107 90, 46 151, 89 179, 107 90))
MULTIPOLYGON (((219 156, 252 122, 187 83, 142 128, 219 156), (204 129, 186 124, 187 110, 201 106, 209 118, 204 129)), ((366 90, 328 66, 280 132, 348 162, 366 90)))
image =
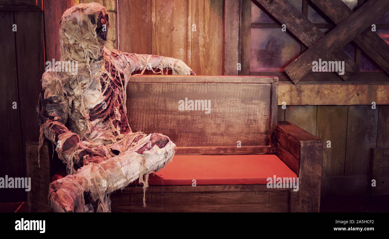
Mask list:
MULTIPOLYGON (((307 47, 312 47, 312 45, 324 36, 324 33, 322 33, 315 24, 309 21, 307 17, 287 0, 256 0, 254 3, 264 7, 266 11, 272 14, 272 16, 281 24, 286 24, 286 29, 307 47)), ((317 60, 318 59, 319 58, 317 58, 317 60)), ((334 57, 328 57, 328 59, 345 62, 345 73, 340 75, 343 80, 347 80, 354 71, 358 70, 356 62, 342 50, 336 52, 334 57)), ((292 77, 291 79, 293 80, 292 77)))

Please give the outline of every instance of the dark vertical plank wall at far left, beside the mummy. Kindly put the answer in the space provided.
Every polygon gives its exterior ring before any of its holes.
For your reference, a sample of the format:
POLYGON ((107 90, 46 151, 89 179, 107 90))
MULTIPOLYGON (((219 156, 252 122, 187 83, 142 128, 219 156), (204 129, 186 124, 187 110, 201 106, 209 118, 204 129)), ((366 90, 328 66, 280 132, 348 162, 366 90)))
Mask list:
MULTIPOLYGON (((2 11, 0 25, 4 35, 1 75, 1 135, 0 177, 26 177, 26 142, 37 141, 39 125, 35 106, 45 70, 44 13, 42 11, 2 11), (12 31, 16 24, 17 31, 12 31), (17 109, 12 108, 16 102, 17 109), (5 117, 4 117, 5 116, 5 117)), ((33 178, 32 178, 33 180, 33 178)), ((1 201, 26 201, 24 189, 5 189, 1 201)))

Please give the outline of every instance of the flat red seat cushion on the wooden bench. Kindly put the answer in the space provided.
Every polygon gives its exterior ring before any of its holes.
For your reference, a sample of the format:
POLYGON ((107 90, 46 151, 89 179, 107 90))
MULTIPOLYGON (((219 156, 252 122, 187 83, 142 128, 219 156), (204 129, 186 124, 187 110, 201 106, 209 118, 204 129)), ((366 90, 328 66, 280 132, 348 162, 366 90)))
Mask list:
POLYGON ((274 154, 176 155, 149 176, 149 185, 267 184, 267 178, 297 177, 274 154))

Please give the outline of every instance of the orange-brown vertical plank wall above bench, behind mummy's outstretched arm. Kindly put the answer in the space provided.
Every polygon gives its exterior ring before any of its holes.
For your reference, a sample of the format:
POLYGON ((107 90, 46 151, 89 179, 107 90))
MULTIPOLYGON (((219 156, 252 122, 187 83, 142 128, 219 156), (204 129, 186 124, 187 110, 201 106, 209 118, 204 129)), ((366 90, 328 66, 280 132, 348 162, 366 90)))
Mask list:
POLYGON ((223 0, 130 0, 118 9, 121 51, 175 57, 197 75, 223 75, 223 0))

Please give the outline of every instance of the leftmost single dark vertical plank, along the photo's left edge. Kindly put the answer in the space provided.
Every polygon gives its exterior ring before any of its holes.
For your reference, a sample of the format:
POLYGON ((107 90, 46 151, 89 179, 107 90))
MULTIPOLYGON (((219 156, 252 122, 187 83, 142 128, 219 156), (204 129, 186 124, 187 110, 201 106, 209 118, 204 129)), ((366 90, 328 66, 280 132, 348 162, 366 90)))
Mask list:
MULTIPOLYGON (((0 37, 2 46, 0 55, 1 81, 0 81, 0 118, 1 135, 7 137, 7 143, 2 144, 0 156, 0 177, 24 177, 22 148, 20 141, 20 101, 18 95, 18 75, 16 64, 15 32, 12 31, 14 24, 14 12, 2 12, 0 24, 4 26, 4 34, 0 37), (16 102, 16 109, 13 109, 13 102, 16 102)), ((1 202, 25 200, 26 193, 22 189, 1 189, 1 202)))

